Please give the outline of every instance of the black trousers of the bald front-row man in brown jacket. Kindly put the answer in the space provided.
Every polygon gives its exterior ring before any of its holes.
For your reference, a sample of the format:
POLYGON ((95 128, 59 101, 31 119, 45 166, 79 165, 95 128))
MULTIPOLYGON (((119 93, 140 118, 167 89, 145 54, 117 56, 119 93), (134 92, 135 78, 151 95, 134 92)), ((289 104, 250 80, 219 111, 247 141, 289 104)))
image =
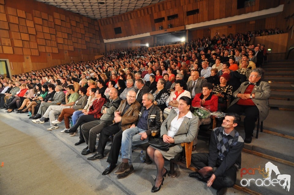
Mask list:
POLYGON ((119 150, 122 145, 123 130, 121 130, 120 123, 115 123, 104 128, 100 133, 100 138, 98 142, 97 152, 104 153, 104 149, 107 143, 109 136, 115 134, 113 137, 113 142, 111 149, 107 158, 108 163, 117 163, 119 158, 119 150))

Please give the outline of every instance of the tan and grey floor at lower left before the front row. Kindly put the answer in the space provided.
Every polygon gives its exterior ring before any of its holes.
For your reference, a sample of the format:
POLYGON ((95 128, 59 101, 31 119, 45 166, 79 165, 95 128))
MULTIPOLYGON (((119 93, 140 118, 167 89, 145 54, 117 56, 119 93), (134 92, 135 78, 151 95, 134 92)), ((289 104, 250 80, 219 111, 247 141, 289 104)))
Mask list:
POLYGON ((52 134, 36 128, 37 137, 32 137, 1 120, 0 124, 0 194, 124 194, 117 186, 107 187, 107 177, 64 149, 66 145, 52 134), (92 172, 84 175, 83 167, 92 172), (85 181, 87 177, 93 182, 85 181))

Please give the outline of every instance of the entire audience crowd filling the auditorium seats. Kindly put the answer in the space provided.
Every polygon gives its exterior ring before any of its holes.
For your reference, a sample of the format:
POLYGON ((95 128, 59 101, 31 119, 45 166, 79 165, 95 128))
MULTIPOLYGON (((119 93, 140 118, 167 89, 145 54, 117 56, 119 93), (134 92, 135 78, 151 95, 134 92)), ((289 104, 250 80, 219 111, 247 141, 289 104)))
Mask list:
MULTIPOLYGON (((230 42, 232 37, 221 40, 230 42)), ((95 153, 88 160, 104 158, 108 138, 114 134, 109 164, 102 175, 116 167, 121 149, 117 178, 134 171, 132 146, 147 143, 152 133, 160 134, 171 146, 168 151, 153 146, 147 149, 157 168, 152 192, 160 190, 168 172, 164 159, 171 160, 182 152, 181 143, 193 142, 195 149, 199 126, 211 122, 195 116, 194 107, 227 112, 221 127, 211 133, 209 154, 192 155, 191 164, 199 171, 190 174, 223 190, 235 184, 241 150, 244 142, 252 141, 255 121, 258 117, 263 121, 269 112, 270 88, 262 81, 264 71, 259 68, 264 46, 234 48, 228 43, 212 50, 199 50, 199 46, 198 41, 191 41, 159 54, 148 53, 145 47, 121 53, 115 50, 103 59, 0 78, 0 106, 8 109, 7 113, 14 109, 30 112, 33 123, 49 121, 49 131, 59 128, 62 120, 65 129, 61 132, 71 136, 80 127, 75 145, 86 143, 82 155, 95 153), (240 114, 245 115, 244 141, 234 129, 240 114), (227 156, 229 160, 225 160, 227 156)))

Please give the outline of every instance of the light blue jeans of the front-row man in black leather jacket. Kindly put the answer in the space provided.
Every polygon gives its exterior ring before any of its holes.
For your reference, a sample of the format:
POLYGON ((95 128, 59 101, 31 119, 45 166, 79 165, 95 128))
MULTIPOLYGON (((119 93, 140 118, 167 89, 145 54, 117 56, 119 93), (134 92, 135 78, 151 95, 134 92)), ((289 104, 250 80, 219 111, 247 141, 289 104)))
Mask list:
POLYGON ((132 146, 145 144, 149 141, 148 137, 145 140, 141 140, 141 135, 138 134, 144 133, 145 131, 146 130, 140 129, 137 126, 123 131, 122 158, 127 158, 129 160, 129 165, 132 164, 132 146))

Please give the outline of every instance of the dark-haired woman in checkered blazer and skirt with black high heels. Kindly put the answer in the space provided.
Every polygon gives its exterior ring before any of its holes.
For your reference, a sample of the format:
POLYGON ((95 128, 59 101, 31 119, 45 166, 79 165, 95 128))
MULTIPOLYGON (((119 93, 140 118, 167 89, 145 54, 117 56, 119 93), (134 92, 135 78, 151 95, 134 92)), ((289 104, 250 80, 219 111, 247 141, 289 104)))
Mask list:
POLYGON ((165 143, 174 144, 168 151, 162 151, 152 146, 149 146, 147 153, 155 162, 157 175, 155 184, 151 192, 160 190, 164 178, 168 170, 164 168, 164 158, 171 160, 175 155, 182 152, 181 143, 192 142, 198 134, 198 116, 193 114, 194 108, 191 106, 192 100, 189 97, 183 96, 179 99, 179 111, 175 112, 171 109, 167 119, 161 125, 160 136, 165 143))

